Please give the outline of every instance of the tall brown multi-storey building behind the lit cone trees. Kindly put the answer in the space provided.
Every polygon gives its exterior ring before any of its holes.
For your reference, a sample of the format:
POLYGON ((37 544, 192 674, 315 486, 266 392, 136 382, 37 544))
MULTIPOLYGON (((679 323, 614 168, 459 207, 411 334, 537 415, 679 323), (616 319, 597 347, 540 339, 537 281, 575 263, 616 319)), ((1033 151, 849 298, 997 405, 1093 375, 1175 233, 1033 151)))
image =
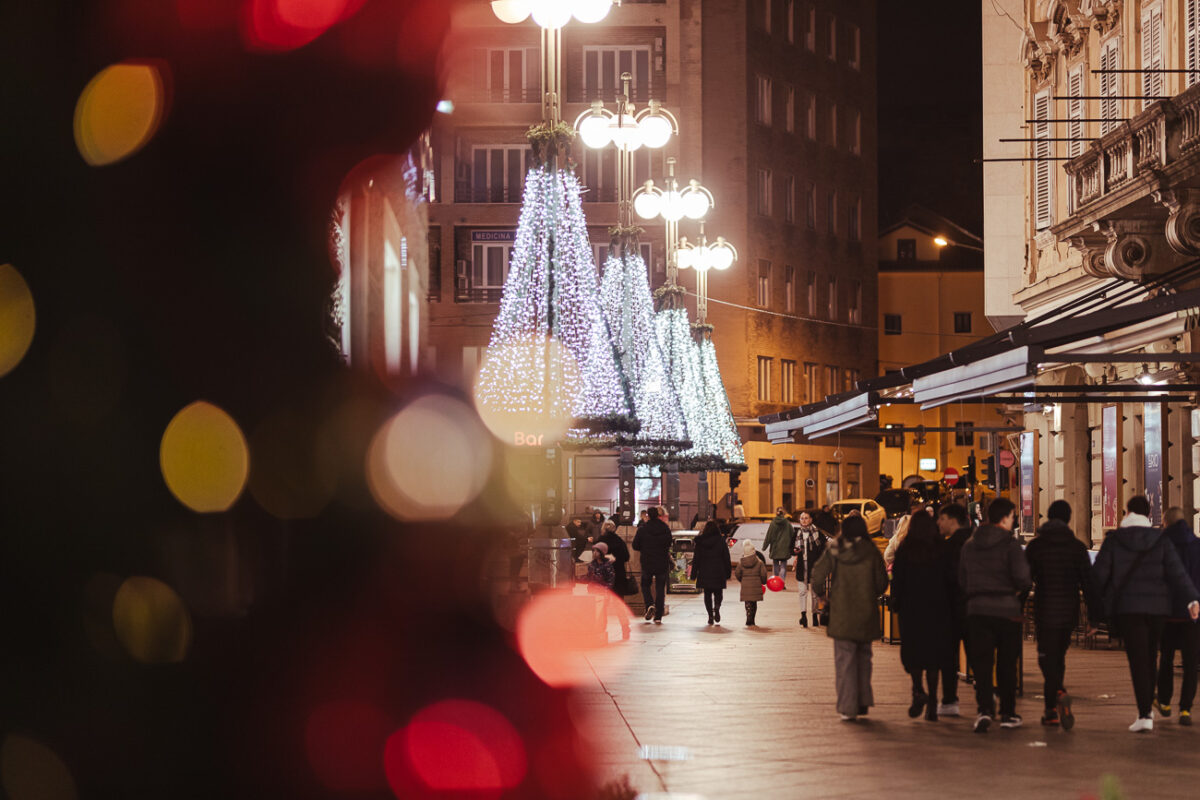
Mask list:
MULTIPOLYGON (((455 19, 446 96, 433 128, 430 206, 431 359, 469 385, 487 345, 506 276, 538 122, 540 32, 505 25, 487 4, 455 19)), ((748 513, 875 492, 874 441, 772 446, 756 417, 851 387, 876 367, 876 144, 874 2, 665 0, 625 2, 599 24, 563 29, 563 119, 594 100, 611 107, 620 76, 630 100, 662 102, 679 136, 636 151, 635 185, 680 181, 716 198, 706 223, 739 252, 709 275, 708 321, 749 465, 748 513)), ((574 158, 593 245, 617 222, 616 152, 574 158)), ((661 225, 644 224, 652 285, 666 277, 661 225)), ((685 222, 680 233, 698 235, 685 222)), ((682 283, 694 290, 684 271, 682 283)), ((695 299, 689 297, 695 319, 695 299)), ((714 476, 714 499, 727 497, 714 476)))

